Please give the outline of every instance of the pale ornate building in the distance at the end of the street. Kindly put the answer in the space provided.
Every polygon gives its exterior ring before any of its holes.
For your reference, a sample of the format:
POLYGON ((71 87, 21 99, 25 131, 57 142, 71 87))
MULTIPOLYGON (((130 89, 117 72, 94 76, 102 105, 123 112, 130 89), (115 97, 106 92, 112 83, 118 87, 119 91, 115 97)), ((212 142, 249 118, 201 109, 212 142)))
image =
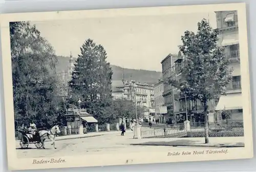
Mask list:
POLYGON ((150 118, 155 115, 154 105, 154 90, 153 85, 147 83, 140 83, 134 80, 123 81, 124 96, 133 100, 137 105, 144 106, 144 118, 150 118))

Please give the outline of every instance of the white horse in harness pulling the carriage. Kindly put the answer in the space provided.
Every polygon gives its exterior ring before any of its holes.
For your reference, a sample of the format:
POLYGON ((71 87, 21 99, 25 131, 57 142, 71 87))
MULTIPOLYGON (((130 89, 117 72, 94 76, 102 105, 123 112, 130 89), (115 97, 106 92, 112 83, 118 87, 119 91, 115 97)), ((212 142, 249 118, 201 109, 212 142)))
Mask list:
POLYGON ((59 126, 55 125, 51 128, 51 130, 47 131, 47 130, 41 130, 38 132, 39 133, 39 137, 41 139, 41 143, 42 143, 42 148, 45 148, 45 140, 49 139, 52 141, 53 147, 56 149, 55 147, 55 137, 57 134, 60 133, 59 130, 59 126))

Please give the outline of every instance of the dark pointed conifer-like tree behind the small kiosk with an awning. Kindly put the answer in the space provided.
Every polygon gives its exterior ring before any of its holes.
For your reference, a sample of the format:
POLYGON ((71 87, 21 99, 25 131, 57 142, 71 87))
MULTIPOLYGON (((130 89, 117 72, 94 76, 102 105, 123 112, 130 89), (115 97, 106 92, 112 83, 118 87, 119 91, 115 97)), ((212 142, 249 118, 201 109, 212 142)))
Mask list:
POLYGON ((99 123, 108 122, 107 119, 112 116, 110 106, 113 72, 110 63, 106 61, 106 52, 92 39, 87 39, 80 50, 81 54, 78 55, 69 83, 73 96, 70 103, 77 105, 76 101, 80 98, 81 108, 86 108, 99 123))

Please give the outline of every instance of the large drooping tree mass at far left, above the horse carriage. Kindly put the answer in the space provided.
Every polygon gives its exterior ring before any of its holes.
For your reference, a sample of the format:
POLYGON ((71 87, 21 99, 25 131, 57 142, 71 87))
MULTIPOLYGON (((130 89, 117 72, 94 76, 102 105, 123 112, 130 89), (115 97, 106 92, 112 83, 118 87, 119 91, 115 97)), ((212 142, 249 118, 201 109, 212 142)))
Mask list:
POLYGON ((56 120, 53 47, 29 22, 11 22, 10 39, 16 127, 31 120, 49 127, 56 120))

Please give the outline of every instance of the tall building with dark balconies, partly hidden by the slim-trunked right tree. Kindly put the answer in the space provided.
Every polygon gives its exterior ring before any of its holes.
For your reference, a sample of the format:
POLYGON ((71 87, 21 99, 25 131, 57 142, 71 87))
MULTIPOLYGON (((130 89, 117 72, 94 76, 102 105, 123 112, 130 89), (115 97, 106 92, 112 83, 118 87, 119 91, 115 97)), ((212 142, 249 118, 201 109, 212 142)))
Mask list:
MULTIPOLYGON (((175 61, 178 58, 176 54, 168 54, 162 61, 162 77, 163 80, 168 80, 169 77, 173 75, 173 66, 175 61)), ((174 95, 173 95, 173 86, 169 83, 163 83, 163 98, 164 106, 167 107, 167 114, 165 115, 166 120, 174 117, 174 95)))

